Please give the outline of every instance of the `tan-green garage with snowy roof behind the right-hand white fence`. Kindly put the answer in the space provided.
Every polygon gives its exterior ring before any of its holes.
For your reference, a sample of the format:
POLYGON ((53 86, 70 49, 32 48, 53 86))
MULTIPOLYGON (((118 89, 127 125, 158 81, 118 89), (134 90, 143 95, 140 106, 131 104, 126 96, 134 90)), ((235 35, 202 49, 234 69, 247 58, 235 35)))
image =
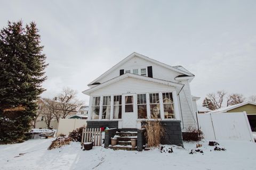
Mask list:
POLYGON ((252 131, 256 131, 256 103, 246 101, 233 106, 222 107, 210 113, 246 112, 252 131))

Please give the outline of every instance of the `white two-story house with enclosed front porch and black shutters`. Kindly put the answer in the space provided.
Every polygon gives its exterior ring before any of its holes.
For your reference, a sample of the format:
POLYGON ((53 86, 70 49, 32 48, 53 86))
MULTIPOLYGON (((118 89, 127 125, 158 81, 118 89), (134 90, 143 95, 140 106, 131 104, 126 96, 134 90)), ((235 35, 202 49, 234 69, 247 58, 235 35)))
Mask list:
POLYGON ((182 66, 132 53, 83 91, 90 96, 87 128, 140 129, 143 121, 157 118, 172 131, 171 143, 182 143, 181 131, 196 128, 199 98, 193 99, 190 90, 194 77, 182 66))

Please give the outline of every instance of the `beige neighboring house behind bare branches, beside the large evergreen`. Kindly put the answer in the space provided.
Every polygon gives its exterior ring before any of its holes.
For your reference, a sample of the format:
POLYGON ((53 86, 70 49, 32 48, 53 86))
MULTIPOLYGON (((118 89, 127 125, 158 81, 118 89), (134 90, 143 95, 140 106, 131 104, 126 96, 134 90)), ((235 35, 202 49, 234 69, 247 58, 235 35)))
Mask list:
MULTIPOLYGON (((47 129, 47 125, 45 123, 45 113, 49 112, 46 108, 47 105, 49 105, 47 101, 48 102, 51 101, 51 102, 54 102, 54 103, 57 103, 57 104, 59 103, 59 101, 57 101, 56 97, 53 100, 46 99, 46 98, 39 98, 38 99, 37 104, 38 104, 38 107, 39 107, 39 111, 41 110, 41 113, 39 114, 39 116, 36 119, 36 124, 35 124, 36 129, 47 129)), ((57 107, 56 109, 59 110, 60 112, 62 112, 60 108, 57 107)), ((76 113, 77 112, 75 110, 71 111, 70 114, 66 118, 69 118, 70 116, 76 115, 76 113)), ((58 121, 57 121, 56 118, 52 119, 52 121, 50 123, 50 127, 52 129, 57 129, 58 128, 58 121)))

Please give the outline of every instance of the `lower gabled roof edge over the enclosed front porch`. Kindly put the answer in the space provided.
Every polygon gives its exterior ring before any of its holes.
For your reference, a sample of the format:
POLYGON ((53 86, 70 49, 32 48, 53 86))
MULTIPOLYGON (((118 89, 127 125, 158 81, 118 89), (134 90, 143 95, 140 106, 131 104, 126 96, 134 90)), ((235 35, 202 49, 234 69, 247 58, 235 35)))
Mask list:
POLYGON ((177 82, 172 82, 172 81, 166 81, 166 80, 160 80, 160 79, 155 79, 155 78, 149 78, 145 77, 142 75, 137 75, 137 74, 132 74, 132 73, 125 73, 123 75, 120 75, 114 79, 108 80, 106 82, 103 82, 102 84, 99 84, 98 86, 94 86, 90 89, 87 89, 83 91, 83 94, 85 95, 90 95, 90 92, 93 92, 95 90, 101 89, 105 86, 108 86, 109 84, 115 83, 117 81, 123 80, 125 78, 135 78, 135 79, 140 79, 140 80, 146 80, 146 81, 151 81, 159 84, 165 84, 167 86, 173 86, 177 89, 177 94, 179 94, 180 90, 183 88, 184 84, 177 83, 177 82))

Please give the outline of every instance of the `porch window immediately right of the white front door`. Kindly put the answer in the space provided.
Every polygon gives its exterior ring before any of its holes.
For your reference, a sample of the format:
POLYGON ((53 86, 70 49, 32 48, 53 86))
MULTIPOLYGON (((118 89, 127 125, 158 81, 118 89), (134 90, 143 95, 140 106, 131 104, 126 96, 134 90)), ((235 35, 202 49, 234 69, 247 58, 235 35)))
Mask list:
POLYGON ((138 118, 147 118, 146 94, 137 95, 138 118))

